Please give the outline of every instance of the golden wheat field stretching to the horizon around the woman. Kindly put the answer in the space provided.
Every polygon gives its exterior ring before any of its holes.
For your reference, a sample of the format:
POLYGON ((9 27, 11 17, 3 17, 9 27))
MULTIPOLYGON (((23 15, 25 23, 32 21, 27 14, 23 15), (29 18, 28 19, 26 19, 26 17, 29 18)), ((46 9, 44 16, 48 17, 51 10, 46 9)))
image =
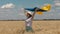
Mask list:
POLYGON ((60 21, 33 21, 32 27, 26 32, 24 21, 0 21, 0 34, 60 34, 60 21))

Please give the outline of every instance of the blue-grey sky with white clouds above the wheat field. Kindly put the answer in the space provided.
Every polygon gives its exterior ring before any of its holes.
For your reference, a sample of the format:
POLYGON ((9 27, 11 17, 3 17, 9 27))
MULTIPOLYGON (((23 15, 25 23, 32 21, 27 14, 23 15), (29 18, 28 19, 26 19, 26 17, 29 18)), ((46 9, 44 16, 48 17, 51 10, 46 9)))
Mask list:
POLYGON ((51 4, 51 10, 34 19, 60 19, 60 0, 0 0, 0 20, 26 19, 22 8, 43 7, 51 4))

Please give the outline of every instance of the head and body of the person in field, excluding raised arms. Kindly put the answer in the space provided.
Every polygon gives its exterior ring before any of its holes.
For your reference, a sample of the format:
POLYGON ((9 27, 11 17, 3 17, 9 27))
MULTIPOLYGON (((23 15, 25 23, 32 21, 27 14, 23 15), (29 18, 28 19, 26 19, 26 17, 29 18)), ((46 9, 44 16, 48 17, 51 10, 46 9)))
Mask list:
POLYGON ((26 19, 26 31, 33 31, 32 30, 32 18, 33 15, 31 14, 31 12, 27 12, 26 13, 27 19, 26 19))

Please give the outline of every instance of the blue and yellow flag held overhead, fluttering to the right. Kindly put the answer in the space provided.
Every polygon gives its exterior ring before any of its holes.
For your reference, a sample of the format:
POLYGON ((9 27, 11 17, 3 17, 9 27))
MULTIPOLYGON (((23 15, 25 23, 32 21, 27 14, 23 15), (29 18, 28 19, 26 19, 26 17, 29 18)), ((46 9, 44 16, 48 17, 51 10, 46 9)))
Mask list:
MULTIPOLYGON (((35 8, 25 8, 25 10, 34 12, 36 8, 38 8, 38 7, 35 7, 35 8)), ((51 5, 48 4, 48 5, 46 5, 46 6, 42 7, 42 8, 38 8, 36 13, 42 15, 43 12, 48 12, 50 9, 51 9, 51 5)))

